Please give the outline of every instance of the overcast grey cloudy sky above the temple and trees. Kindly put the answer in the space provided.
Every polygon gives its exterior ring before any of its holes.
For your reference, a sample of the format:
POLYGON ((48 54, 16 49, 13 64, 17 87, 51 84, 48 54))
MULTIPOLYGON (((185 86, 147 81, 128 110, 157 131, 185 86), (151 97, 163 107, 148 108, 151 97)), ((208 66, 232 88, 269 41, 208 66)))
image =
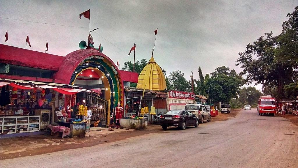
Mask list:
POLYGON ((94 46, 101 43, 103 53, 114 62, 119 60, 120 67, 134 60, 133 55, 127 56, 134 43, 136 59, 150 59, 158 28, 156 62, 167 75, 181 70, 189 80, 191 71, 198 78, 199 66, 203 74, 223 65, 239 73, 238 53, 264 33, 278 35, 297 2, 0 0, 0 43, 5 44, 8 30, 8 45, 25 48, 29 34, 32 48, 27 49, 44 52, 47 40, 48 53, 65 56, 78 50, 81 40, 87 41, 89 28, 84 27, 89 27, 89 20, 79 19, 79 14, 90 9, 91 30, 100 28, 91 34, 94 46))

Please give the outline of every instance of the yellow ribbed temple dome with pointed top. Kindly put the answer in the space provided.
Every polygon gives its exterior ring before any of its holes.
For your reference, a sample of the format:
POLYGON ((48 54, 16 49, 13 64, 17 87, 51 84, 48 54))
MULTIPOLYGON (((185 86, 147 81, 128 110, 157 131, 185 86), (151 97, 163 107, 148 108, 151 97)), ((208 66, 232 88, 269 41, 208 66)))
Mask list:
POLYGON ((137 88, 150 90, 167 89, 164 73, 159 65, 155 62, 153 55, 149 63, 144 67, 138 78, 137 88))

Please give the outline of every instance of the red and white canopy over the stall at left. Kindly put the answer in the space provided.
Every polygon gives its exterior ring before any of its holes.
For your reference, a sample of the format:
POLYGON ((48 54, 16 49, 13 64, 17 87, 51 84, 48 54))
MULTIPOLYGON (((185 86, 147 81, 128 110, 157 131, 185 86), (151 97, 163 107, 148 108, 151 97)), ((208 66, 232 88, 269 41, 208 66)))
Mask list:
POLYGON ((0 87, 10 85, 18 89, 53 89, 59 93, 65 95, 72 95, 79 92, 93 92, 91 90, 81 89, 78 86, 69 85, 69 84, 57 84, 57 83, 44 83, 36 81, 23 81, 23 80, 13 80, 13 79, 1 79, 0 78, 0 87))

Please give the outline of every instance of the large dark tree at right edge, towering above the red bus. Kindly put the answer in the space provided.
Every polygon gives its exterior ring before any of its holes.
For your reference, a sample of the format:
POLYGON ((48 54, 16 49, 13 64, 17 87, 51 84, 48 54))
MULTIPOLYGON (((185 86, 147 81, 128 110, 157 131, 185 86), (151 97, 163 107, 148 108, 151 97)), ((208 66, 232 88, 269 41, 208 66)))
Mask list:
POLYGON ((297 82, 298 74, 298 7, 287 17, 280 35, 265 33, 253 44, 249 43, 236 61, 243 68, 240 75, 246 75, 248 83, 263 84, 263 93, 266 87, 276 86, 278 99, 285 97, 284 86, 297 82))

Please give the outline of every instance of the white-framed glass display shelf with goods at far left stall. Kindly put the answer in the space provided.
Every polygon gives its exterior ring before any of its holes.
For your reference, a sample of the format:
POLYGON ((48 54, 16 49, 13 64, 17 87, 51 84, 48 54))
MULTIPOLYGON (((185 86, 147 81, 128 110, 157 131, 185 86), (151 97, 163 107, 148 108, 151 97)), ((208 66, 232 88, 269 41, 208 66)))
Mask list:
POLYGON ((0 121, 2 121, 0 122, 0 132, 12 134, 39 131, 39 120, 40 116, 38 115, 0 117, 0 121))

